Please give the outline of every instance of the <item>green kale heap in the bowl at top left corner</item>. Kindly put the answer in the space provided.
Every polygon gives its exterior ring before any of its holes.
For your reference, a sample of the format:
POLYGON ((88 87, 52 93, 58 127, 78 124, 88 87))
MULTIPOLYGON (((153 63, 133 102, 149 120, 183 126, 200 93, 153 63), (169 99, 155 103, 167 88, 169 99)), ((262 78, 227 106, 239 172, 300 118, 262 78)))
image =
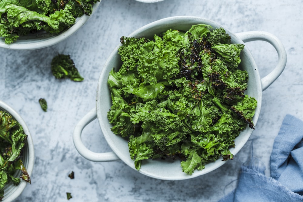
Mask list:
POLYGON ((0 0, 0 37, 10 44, 40 30, 58 34, 100 0, 0 0))

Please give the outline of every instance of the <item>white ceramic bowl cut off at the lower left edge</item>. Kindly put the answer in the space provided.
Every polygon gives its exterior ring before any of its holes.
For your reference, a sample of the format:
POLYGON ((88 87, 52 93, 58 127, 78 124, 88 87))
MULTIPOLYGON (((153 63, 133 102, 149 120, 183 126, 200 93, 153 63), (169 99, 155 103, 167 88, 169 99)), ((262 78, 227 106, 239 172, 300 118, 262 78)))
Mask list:
MULTIPOLYGON (((21 159, 23 165, 26 168, 26 171, 29 174, 29 177, 32 177, 32 171, 34 167, 34 144, 32 141, 32 136, 28 130, 28 127, 26 126, 21 116, 8 104, 5 104, 4 102, 0 101, 0 109, 7 111, 9 114, 11 114, 12 117, 15 118, 15 120, 22 125, 24 133, 27 135, 27 144, 23 149, 21 159)), ((21 174, 22 174, 21 171, 18 170, 15 173, 14 177, 19 177, 21 174)), ((15 200, 22 193, 22 191, 25 189, 27 184, 28 182, 24 180, 21 180, 18 186, 15 186, 13 183, 6 184, 4 187, 4 197, 2 199, 2 202, 15 200)))

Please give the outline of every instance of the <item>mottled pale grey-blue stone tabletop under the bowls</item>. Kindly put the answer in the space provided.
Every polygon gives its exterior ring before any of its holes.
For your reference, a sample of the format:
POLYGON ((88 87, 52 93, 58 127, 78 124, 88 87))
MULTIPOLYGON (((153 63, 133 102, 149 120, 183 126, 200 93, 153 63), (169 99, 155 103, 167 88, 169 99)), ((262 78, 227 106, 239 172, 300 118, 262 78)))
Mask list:
MULTIPOLYGON (((0 99, 25 120, 35 147, 35 165, 27 185, 16 201, 217 201, 233 190, 241 165, 252 156, 266 166, 273 140, 286 114, 303 119, 303 35, 301 1, 201 1, 102 0, 92 18, 74 35, 48 48, 33 51, 0 49, 0 99), (121 160, 91 162, 76 151, 72 133, 79 120, 95 107, 97 82, 120 37, 155 20, 192 15, 208 18, 234 33, 267 31, 285 46, 288 62, 281 76, 263 92, 261 114, 250 140, 215 171, 190 180, 165 181, 147 177, 121 160), (56 80, 50 62, 57 54, 74 60, 82 82, 56 80), (48 102, 44 112, 39 98, 48 102), (252 152, 253 145, 253 152, 252 152), (68 174, 74 171, 75 179, 68 174)), ((277 63, 275 49, 264 41, 245 44, 258 65, 261 77, 277 63)), ((84 144, 92 151, 111 151, 98 121, 85 127, 84 144)))

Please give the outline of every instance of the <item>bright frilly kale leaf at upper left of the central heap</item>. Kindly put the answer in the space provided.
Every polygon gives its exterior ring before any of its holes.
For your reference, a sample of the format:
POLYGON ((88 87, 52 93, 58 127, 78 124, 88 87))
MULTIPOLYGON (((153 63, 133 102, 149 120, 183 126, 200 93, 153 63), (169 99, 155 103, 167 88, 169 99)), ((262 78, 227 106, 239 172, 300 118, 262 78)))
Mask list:
POLYGON ((124 75, 135 70, 143 83, 150 85, 172 78, 179 72, 176 51, 182 46, 183 35, 177 31, 173 31, 173 34, 167 31, 163 33, 163 39, 155 35, 155 41, 122 37, 119 55, 123 64, 119 72, 124 75))

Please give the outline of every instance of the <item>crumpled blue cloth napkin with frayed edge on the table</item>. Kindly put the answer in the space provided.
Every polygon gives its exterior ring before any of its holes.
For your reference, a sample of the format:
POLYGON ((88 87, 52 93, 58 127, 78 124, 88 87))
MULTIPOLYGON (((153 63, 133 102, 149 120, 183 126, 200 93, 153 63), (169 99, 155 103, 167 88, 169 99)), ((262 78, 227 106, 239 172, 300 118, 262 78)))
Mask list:
POLYGON ((270 158, 271 177, 253 158, 242 167, 235 190, 219 202, 303 201, 303 121, 286 115, 270 158))

